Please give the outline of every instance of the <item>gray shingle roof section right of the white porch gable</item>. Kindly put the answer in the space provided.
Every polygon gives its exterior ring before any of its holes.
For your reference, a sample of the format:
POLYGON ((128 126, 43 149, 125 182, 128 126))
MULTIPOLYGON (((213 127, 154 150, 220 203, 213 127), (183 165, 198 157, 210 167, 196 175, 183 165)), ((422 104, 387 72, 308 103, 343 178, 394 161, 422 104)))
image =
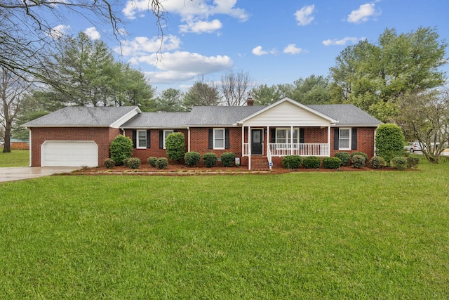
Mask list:
POLYGON ((380 122, 375 117, 364 112, 352 104, 317 104, 307 105, 313 110, 321 112, 338 121, 337 125, 366 125, 377 126, 380 122))

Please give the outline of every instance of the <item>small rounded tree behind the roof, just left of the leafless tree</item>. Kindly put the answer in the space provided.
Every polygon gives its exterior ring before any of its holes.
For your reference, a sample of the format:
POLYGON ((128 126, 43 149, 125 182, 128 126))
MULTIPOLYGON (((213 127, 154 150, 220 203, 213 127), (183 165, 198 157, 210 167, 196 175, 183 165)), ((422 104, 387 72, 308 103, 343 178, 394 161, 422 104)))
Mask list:
POLYGON ((221 103, 220 93, 213 82, 196 81, 185 94, 182 104, 187 111, 194 106, 213 106, 221 103))

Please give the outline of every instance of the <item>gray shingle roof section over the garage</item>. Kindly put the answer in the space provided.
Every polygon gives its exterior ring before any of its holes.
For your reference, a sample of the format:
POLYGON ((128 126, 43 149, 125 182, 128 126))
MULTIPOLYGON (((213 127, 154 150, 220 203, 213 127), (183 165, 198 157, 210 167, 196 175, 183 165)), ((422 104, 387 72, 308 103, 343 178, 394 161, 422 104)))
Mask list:
POLYGON ((108 127, 137 106, 64 107, 23 124, 26 127, 95 126, 108 127))

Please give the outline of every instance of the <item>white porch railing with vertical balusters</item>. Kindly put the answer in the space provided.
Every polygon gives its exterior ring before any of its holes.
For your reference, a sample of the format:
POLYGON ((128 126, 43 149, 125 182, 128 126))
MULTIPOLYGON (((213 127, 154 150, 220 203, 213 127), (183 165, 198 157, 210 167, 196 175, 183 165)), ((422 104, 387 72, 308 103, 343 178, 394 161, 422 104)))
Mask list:
MULTIPOLYGON (((269 143, 269 152, 267 156, 286 156, 286 155, 300 155, 300 156, 329 156, 329 145, 325 143, 313 144, 283 144, 283 143, 269 143)), ((249 155, 249 143, 243 143, 243 156, 249 155)))

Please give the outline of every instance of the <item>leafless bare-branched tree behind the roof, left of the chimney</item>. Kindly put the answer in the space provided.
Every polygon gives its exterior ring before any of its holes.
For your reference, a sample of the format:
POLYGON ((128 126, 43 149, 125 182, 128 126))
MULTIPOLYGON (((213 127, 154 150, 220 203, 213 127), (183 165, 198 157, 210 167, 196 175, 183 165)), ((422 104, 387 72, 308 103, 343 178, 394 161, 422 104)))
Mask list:
POLYGON ((228 106, 246 103, 250 89, 251 77, 248 72, 226 72, 222 75, 222 93, 228 106))

